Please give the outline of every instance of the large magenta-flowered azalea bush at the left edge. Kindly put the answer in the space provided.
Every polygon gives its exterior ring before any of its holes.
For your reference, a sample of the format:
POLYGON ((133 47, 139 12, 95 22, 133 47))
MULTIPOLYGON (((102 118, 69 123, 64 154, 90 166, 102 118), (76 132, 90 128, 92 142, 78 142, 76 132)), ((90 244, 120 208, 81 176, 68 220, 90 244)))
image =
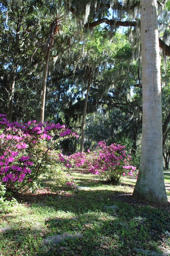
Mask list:
POLYGON ((29 121, 25 124, 8 122, 0 114, 0 179, 10 190, 32 185, 56 163, 55 144, 77 136, 65 125, 29 121))

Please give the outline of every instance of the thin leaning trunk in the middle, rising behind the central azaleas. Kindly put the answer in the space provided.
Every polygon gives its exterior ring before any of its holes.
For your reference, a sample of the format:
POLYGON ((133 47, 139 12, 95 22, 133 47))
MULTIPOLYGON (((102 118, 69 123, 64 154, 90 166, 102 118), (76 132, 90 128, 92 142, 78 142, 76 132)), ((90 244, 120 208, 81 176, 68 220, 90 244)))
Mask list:
POLYGON ((84 152, 84 143, 85 143, 85 116, 86 116, 86 110, 87 110, 87 101, 88 101, 88 94, 90 90, 90 83, 91 83, 91 77, 92 77, 92 69, 90 67, 89 75, 88 75, 88 84, 87 84, 87 92, 85 95, 85 105, 83 108, 83 120, 82 120, 82 134, 81 134, 81 144, 80 144, 80 151, 84 152))

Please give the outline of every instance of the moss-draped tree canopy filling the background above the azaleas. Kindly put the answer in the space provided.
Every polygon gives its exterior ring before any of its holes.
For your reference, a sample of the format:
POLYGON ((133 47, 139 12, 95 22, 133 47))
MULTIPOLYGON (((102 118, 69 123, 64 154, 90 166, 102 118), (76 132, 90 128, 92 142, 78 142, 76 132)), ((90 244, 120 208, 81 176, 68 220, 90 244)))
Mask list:
MULTIPOLYGON (((87 150, 103 138, 108 143, 126 138, 132 153, 140 151, 145 101, 140 4, 139 0, 2 1, 1 112, 10 121, 37 119, 74 128, 82 141, 76 145, 67 141, 66 151, 87 150)), ((163 57, 161 141, 168 167, 170 1, 150 0, 150 4, 156 9, 163 57)))

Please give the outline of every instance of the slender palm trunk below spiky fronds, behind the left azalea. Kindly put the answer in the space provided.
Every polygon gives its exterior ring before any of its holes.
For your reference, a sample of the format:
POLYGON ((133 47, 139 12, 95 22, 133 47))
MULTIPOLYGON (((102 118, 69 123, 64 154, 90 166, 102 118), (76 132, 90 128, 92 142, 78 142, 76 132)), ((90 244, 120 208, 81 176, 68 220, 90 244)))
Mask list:
POLYGON ((40 122, 42 122, 42 123, 44 122, 46 84, 47 84, 49 59, 50 59, 50 47, 48 48, 47 55, 46 55, 46 65, 45 65, 45 69, 44 69, 44 78, 43 78, 43 92, 42 92, 42 99, 41 99, 41 116, 40 116, 40 122))

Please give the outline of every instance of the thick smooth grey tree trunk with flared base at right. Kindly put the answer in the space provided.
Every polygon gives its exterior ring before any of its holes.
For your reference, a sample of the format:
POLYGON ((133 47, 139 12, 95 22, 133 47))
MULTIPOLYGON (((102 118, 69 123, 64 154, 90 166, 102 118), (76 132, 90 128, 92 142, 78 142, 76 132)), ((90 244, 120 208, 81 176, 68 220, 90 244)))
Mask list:
POLYGON ((142 145, 133 197, 167 203, 162 156, 162 107, 156 0, 141 0, 142 145))

